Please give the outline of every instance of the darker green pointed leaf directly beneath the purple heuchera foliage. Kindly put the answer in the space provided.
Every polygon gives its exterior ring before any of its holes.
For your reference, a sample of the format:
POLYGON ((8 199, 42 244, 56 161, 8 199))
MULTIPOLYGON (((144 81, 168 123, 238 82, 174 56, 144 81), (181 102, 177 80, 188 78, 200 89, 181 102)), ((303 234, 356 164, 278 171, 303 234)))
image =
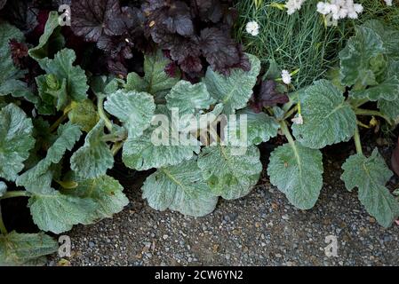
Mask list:
POLYGON ((180 80, 180 72, 173 77, 165 72, 165 68, 171 63, 172 61, 165 58, 162 51, 146 55, 144 57, 144 77, 130 73, 124 88, 127 91, 146 91, 156 98, 164 98, 180 80))

